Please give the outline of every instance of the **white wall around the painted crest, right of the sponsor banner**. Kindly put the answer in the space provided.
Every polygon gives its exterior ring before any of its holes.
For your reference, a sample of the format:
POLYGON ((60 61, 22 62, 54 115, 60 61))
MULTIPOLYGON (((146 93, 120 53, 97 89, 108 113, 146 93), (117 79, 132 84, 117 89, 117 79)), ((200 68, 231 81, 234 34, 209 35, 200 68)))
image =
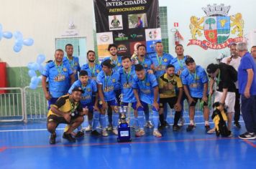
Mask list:
MULTIPOLYGON (((234 1, 234 0, 159 0, 160 6, 168 6, 168 28, 173 28, 173 22, 179 23, 180 34, 183 35, 184 41, 181 42, 185 49, 185 54, 191 55, 196 60, 197 64, 201 64, 206 67, 209 63, 215 62, 215 58, 222 52, 229 54, 229 49, 207 49, 204 50, 201 47, 188 44, 188 39, 191 38, 191 33, 189 29, 190 17, 197 16, 202 17, 206 16, 202 7, 206 7, 207 4, 225 4, 226 6, 231 6, 229 10, 229 16, 237 14, 238 12, 242 14, 244 19, 244 34, 249 34, 253 29, 256 29, 256 19, 255 19, 255 6, 256 1, 254 0, 243 0, 243 1, 234 1)), ((203 33, 203 32, 202 32, 203 33)), ((175 45, 174 45, 174 33, 169 32, 170 37, 170 54, 175 54, 175 45)), ((252 40, 252 39, 251 39, 252 40)), ((253 44, 249 44, 252 46, 253 44)), ((254 44, 255 45, 255 44, 254 44)))

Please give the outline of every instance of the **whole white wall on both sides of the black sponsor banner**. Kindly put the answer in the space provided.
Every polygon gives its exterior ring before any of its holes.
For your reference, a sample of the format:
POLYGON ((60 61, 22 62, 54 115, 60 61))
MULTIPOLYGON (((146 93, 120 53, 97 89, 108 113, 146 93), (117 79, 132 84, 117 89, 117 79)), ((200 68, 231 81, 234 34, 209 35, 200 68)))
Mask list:
MULTIPOLYGON (((168 28, 173 28, 173 22, 179 22, 179 31, 184 37, 182 42, 185 53, 196 59, 197 64, 206 67, 215 62, 215 57, 221 52, 229 53, 229 49, 204 50, 198 46, 186 46, 191 39, 189 29, 191 16, 206 16, 201 9, 207 4, 230 5, 229 15, 240 12, 244 19, 244 34, 256 29, 256 1, 231 0, 159 0, 160 6, 168 6, 168 28)), ((5 31, 20 31, 24 37, 32 37, 35 44, 23 47, 15 53, 12 49, 13 39, 1 39, 0 61, 7 62, 10 67, 23 67, 28 62, 35 62, 37 54, 45 54, 52 59, 55 50, 55 38, 68 29, 69 21, 74 21, 78 29, 78 37, 86 37, 87 49, 93 49, 94 12, 93 0, 1 0, 0 23, 5 31)), ((170 54, 175 56, 173 33, 169 32, 170 54)), ((252 44, 250 44, 251 46, 252 44)))

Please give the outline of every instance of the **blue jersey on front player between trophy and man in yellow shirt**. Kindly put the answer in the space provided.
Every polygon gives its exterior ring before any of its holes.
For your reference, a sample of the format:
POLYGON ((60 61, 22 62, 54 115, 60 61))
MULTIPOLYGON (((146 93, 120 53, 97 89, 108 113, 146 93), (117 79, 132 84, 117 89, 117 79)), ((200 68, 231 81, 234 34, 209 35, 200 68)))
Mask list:
MULTIPOLYGON (((147 104, 154 102, 154 87, 157 87, 157 79, 154 74, 145 73, 145 79, 138 79, 135 75, 132 79, 132 88, 138 90, 140 100, 147 104)), ((159 98, 158 98, 159 99, 159 98)))

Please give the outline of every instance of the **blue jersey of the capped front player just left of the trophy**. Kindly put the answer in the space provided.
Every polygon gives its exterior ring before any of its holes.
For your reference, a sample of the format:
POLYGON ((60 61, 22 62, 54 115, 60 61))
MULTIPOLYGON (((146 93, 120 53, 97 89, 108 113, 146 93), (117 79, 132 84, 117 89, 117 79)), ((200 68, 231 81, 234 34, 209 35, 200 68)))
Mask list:
POLYGON ((119 78, 119 72, 116 72, 114 69, 110 76, 105 76, 102 70, 99 72, 97 76, 97 83, 102 85, 105 101, 116 99, 115 91, 120 90, 119 78))

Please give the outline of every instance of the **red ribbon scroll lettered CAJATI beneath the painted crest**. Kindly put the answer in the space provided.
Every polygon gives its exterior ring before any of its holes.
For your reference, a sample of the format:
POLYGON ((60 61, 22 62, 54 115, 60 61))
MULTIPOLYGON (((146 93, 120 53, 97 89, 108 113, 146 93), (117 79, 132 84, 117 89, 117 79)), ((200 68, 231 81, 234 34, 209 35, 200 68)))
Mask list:
POLYGON ((232 43, 237 43, 237 42, 242 42, 243 41, 243 37, 236 37, 236 38, 229 38, 227 39, 226 42, 222 43, 222 44, 213 44, 211 42, 208 42, 206 40, 201 41, 198 39, 190 39, 187 46, 189 45, 198 45, 199 47, 203 48, 203 49, 224 49, 225 47, 229 47, 229 44, 232 43))

